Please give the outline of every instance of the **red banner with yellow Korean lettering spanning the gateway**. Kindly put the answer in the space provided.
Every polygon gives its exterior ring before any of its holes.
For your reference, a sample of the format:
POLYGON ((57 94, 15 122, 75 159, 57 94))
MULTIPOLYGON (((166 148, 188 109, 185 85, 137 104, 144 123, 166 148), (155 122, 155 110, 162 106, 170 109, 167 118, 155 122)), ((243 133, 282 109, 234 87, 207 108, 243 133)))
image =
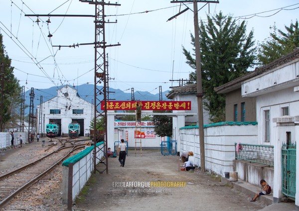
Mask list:
MULTIPOLYGON (((107 101, 107 110, 136 110, 140 103, 144 111, 179 111, 191 110, 191 101, 107 101)), ((104 110, 105 103, 101 103, 104 110)))

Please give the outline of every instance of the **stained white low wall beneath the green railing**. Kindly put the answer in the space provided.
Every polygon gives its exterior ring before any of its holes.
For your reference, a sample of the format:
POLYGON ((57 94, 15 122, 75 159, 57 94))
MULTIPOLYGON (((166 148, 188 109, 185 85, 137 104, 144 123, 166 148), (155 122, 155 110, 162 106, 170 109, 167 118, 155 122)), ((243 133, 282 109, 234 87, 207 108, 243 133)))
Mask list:
POLYGON ((234 171, 238 172, 238 178, 250 184, 261 186, 261 179, 274 187, 274 168, 258 163, 250 163, 244 160, 234 160, 234 171))

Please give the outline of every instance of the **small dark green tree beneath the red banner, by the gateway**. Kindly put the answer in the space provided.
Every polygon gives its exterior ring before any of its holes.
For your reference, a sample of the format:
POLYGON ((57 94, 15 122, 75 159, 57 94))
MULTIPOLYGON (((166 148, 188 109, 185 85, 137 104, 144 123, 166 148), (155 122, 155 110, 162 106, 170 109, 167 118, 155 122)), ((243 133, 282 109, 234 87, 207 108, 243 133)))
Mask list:
MULTIPOLYGON (((159 111, 160 113, 161 111, 159 111)), ((153 111, 155 113, 155 111, 153 111)), ((165 111, 165 113, 171 113, 165 111)), ((151 121, 154 124, 154 132, 158 137, 172 137, 172 117, 157 115, 152 116, 151 121)))

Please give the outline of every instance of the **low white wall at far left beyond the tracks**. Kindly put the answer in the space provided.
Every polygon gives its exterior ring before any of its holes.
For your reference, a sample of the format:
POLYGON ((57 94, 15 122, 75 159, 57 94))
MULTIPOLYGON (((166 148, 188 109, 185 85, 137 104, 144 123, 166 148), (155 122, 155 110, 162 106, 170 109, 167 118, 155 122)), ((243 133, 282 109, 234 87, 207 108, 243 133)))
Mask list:
MULTIPOLYGON (((18 146, 20 144, 19 136, 22 136, 23 144, 25 141, 28 143, 28 133, 26 132, 14 132, 14 143, 18 146)), ((0 150, 11 148, 11 136, 10 133, 0 133, 0 150)))

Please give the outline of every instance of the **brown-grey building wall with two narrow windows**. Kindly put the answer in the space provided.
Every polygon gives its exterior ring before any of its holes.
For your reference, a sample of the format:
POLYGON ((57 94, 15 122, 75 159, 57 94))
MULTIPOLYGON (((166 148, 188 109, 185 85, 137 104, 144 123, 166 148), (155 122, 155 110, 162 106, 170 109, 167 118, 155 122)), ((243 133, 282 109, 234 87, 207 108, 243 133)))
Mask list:
POLYGON ((242 97, 241 88, 225 94, 225 121, 235 121, 234 105, 237 104, 237 121, 241 122, 241 103, 245 102, 245 122, 257 121, 256 98, 242 97))

